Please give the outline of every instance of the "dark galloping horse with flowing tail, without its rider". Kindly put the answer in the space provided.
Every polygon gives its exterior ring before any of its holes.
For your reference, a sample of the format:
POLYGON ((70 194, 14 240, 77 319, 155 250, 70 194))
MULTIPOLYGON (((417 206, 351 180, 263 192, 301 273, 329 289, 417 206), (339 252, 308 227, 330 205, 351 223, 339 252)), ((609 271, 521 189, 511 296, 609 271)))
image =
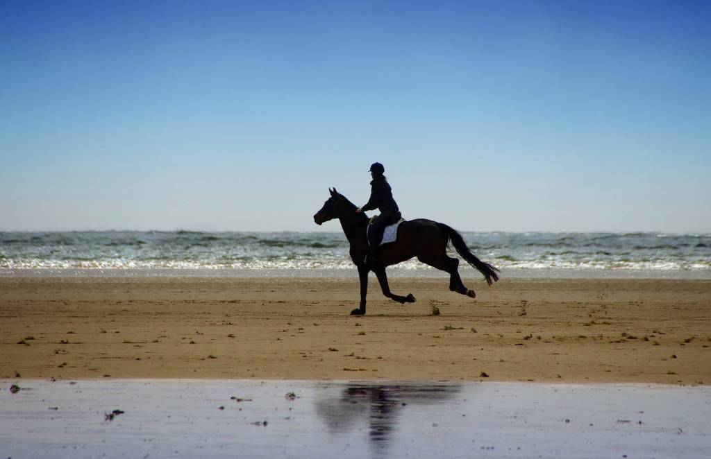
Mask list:
POLYGON ((383 295, 398 303, 414 303, 415 296, 408 293, 407 296, 400 296, 392 293, 387 285, 385 267, 401 263, 417 257, 419 261, 428 264, 433 268, 441 269, 449 273, 449 290, 456 291, 471 298, 476 297, 474 290, 466 288, 459 277, 459 259, 447 256, 447 245, 451 242, 454 249, 471 266, 483 274, 486 284, 491 286, 498 281, 498 268, 491 266, 476 258, 471 253, 466 242, 459 232, 444 223, 434 222, 418 218, 400 223, 397 228, 397 240, 380 247, 378 266, 368 266, 365 264, 365 254, 368 253, 367 230, 370 219, 364 212, 355 213, 357 207, 345 196, 336 191, 336 188, 328 188, 331 198, 324 202, 319 212, 314 215, 316 225, 322 225, 328 220, 338 219, 341 222, 343 233, 346 234, 348 243, 351 244, 350 254, 353 264, 358 268, 360 277, 360 306, 351 311, 351 315, 365 314, 365 296, 368 294, 368 273, 373 271, 378 278, 383 295))

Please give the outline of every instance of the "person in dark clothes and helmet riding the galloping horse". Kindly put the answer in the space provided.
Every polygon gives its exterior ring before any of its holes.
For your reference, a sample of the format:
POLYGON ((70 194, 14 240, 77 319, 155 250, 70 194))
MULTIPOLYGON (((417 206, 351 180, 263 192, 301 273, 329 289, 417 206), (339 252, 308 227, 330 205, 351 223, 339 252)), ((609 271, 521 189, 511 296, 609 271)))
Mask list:
POLYGON ((368 204, 355 210, 355 213, 364 212, 365 210, 380 210, 380 216, 375 219, 368 229, 368 257, 365 258, 365 263, 370 266, 380 264, 378 260, 378 246, 383 239, 383 232, 387 225, 397 222, 402 217, 400 210, 397 208, 397 202, 392 199, 392 191, 390 185, 385 178, 385 168, 380 163, 373 163, 370 166, 370 175, 373 176, 373 181, 370 182, 370 200, 368 204))

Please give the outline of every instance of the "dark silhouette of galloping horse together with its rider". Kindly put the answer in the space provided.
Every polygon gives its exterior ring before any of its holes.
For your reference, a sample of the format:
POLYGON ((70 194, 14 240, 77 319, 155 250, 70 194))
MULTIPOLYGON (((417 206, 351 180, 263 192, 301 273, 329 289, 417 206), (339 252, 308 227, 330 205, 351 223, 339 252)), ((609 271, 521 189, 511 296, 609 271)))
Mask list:
POLYGON ((319 212, 314 215, 314 222, 321 225, 328 220, 338 219, 346 234, 346 239, 351 245, 350 254, 353 264, 358 268, 360 276, 360 307, 351 311, 353 315, 365 314, 365 296, 368 293, 368 273, 373 271, 378 277, 383 295, 398 303, 414 303, 412 293, 400 296, 392 293, 387 285, 385 267, 401 263, 417 257, 419 261, 449 273, 449 290, 474 298, 474 290, 466 288, 459 276, 459 259, 447 255, 449 242, 456 252, 471 266, 483 274, 488 285, 498 281, 498 269, 485 263, 471 253, 466 242, 459 232, 444 223, 434 222, 424 218, 401 222, 397 227, 397 240, 390 244, 380 246, 383 231, 387 225, 400 220, 400 210, 395 199, 392 198, 392 189, 385 178, 385 168, 380 163, 370 166, 373 181, 370 182, 370 200, 363 207, 355 206, 345 196, 328 189, 331 198, 324 202, 319 212), (370 224, 370 219, 365 215, 365 210, 378 208, 380 215, 375 222, 370 224), (368 243, 370 242, 370 244, 368 243))

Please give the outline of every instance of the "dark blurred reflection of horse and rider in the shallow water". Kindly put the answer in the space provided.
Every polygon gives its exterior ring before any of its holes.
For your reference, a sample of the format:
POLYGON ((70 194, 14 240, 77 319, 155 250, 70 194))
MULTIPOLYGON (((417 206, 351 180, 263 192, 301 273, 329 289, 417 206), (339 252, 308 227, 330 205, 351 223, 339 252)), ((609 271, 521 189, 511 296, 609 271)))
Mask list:
POLYGON ((378 454, 385 452, 403 411, 449 400, 460 390, 458 384, 339 384, 317 392, 315 406, 331 433, 368 426, 370 446, 378 454))

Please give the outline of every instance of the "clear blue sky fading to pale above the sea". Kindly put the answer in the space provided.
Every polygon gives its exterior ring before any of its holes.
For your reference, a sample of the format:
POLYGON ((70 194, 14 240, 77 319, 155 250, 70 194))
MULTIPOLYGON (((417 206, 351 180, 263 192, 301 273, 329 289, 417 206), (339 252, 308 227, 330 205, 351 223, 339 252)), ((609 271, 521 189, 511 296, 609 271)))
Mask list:
POLYGON ((0 230, 711 232, 709 1, 0 0, 0 230))

